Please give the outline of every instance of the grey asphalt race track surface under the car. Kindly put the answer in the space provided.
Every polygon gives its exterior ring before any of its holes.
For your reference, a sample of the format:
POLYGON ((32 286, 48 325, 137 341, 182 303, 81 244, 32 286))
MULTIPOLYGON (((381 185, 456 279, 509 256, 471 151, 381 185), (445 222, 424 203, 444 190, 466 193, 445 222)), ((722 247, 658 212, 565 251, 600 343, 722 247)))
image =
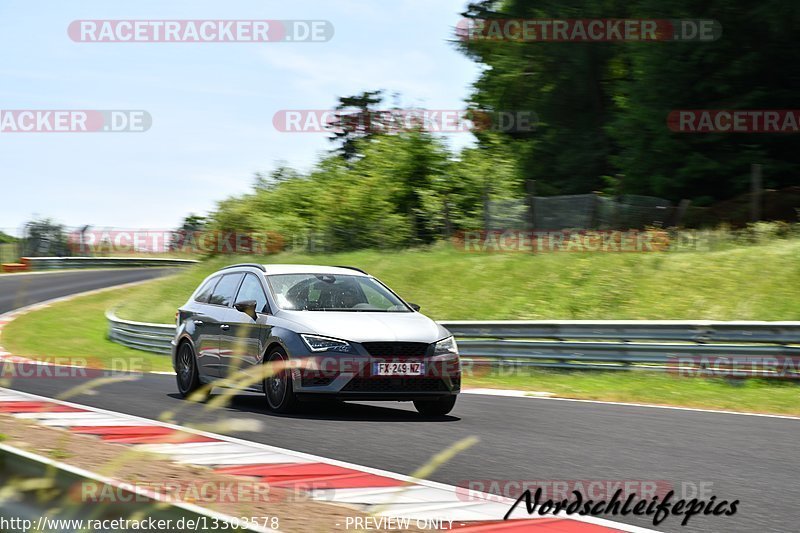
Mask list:
MULTIPOLYGON (((87 286, 87 280, 79 279, 83 274, 39 276, 27 286, 25 298, 102 286, 101 281, 87 286), (31 291, 32 286, 50 288, 31 291)), ((105 283, 143 275, 111 274, 105 283)), ((8 300, 16 280, 23 281, 21 276, 0 277, 0 303, 8 300)), ((17 379, 11 388, 55 397, 81 379, 17 379)), ((678 497, 685 484, 687 499, 694 489, 705 488, 706 499, 712 494, 717 501, 738 499, 738 512, 694 516, 685 527, 673 516, 659 526, 630 515, 605 518, 669 532, 800 531, 800 420, 795 419, 481 395, 460 396, 451 415, 441 419, 421 418, 405 403, 308 404, 299 414, 280 416, 267 411, 257 394, 236 395, 228 407, 207 411, 180 399, 173 376, 155 374, 70 401, 146 418, 177 411, 181 423, 255 419, 263 431, 229 434, 403 474, 454 442, 477 436, 478 444, 430 478, 452 485, 468 480, 646 480, 671 485, 678 497)))

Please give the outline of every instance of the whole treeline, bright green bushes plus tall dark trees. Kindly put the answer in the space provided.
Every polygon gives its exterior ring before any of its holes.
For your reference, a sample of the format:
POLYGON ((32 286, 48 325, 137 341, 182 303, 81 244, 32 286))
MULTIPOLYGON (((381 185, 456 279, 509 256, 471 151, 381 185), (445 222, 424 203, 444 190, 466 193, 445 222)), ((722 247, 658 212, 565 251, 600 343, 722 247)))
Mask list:
MULTIPOLYGON (((477 131, 451 153, 422 129, 376 132, 341 124, 336 150, 308 174, 279 168, 253 191, 221 202, 210 227, 273 231, 314 250, 429 243, 483 226, 487 198, 605 191, 693 205, 750 187, 800 182, 797 135, 686 134, 667 127, 676 109, 794 109, 800 89, 800 4, 763 0, 504 0, 470 4, 491 18, 709 18, 714 42, 560 43, 458 40, 485 65, 468 108, 533 111, 533 131, 477 131)), ((382 93, 342 97, 368 114, 382 93)), ((349 125, 348 125, 349 124, 349 125)))

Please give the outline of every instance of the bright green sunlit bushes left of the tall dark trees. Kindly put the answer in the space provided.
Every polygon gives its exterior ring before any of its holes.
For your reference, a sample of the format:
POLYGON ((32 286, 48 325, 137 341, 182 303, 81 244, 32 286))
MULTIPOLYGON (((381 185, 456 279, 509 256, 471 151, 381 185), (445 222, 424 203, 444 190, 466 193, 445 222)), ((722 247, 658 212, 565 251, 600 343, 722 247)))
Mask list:
POLYGON ((426 244, 459 228, 482 227, 483 198, 514 197, 519 172, 500 142, 455 158, 420 131, 371 135, 358 157, 322 159, 308 175, 279 168, 252 193, 220 202, 212 228, 272 231, 312 250, 426 244))

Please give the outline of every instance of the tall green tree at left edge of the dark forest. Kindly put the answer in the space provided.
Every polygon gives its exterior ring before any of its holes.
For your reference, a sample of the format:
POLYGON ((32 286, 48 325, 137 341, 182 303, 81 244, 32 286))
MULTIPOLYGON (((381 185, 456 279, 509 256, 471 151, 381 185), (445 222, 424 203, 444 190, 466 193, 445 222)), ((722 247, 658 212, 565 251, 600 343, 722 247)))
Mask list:
MULTIPOLYGON (((624 16, 627 2, 581 0, 482 1, 468 6, 470 19, 624 16)), ((493 112, 533 112, 534 131, 504 133, 514 142, 520 171, 539 191, 572 194, 600 188, 612 173, 613 143, 604 125, 613 110, 613 69, 617 43, 558 43, 462 40, 469 57, 490 68, 475 82, 470 106, 493 112)), ((488 133, 478 132, 482 144, 488 133)))

